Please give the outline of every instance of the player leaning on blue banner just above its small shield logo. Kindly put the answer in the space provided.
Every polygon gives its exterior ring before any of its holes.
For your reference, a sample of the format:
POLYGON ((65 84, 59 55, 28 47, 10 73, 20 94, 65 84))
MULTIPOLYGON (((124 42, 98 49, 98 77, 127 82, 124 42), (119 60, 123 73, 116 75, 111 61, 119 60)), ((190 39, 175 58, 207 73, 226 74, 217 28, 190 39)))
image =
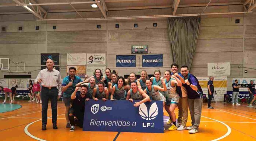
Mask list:
POLYGON ((94 88, 92 92, 92 99, 98 101, 99 99, 106 101, 109 99, 109 90, 104 89, 104 83, 99 82, 98 88, 94 88))

